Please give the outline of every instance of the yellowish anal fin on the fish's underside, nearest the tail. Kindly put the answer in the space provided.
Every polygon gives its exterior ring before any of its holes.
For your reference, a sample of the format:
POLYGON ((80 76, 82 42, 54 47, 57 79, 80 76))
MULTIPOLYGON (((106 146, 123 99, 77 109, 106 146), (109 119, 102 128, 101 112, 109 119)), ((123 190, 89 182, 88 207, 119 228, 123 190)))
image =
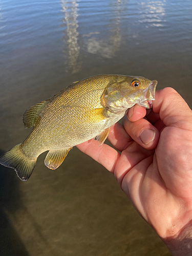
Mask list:
POLYGON ((45 158, 45 165, 49 169, 56 169, 58 168, 61 163, 65 160, 68 152, 71 150, 70 148, 65 148, 63 150, 50 150, 45 158))

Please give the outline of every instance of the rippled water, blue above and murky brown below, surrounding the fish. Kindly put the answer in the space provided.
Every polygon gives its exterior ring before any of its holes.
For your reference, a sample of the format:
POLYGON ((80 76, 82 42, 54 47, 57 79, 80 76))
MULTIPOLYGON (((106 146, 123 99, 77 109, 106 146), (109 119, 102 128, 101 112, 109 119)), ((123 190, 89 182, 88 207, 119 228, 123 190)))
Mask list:
MULTIPOLYGON (((192 1, 0 0, 0 149, 22 142, 22 116, 92 75, 157 79, 192 106, 192 1)), ((110 173, 77 148, 28 182, 0 167, 1 255, 170 255, 110 173)))

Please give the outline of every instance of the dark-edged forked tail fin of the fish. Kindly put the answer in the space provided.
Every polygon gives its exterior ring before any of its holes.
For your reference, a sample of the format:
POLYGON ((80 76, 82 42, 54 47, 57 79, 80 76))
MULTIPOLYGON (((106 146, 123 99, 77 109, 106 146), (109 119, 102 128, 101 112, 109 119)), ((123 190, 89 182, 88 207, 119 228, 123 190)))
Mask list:
POLYGON ((15 169, 17 176, 22 181, 27 181, 35 167, 37 158, 26 156, 18 144, 0 157, 0 163, 4 166, 15 169))

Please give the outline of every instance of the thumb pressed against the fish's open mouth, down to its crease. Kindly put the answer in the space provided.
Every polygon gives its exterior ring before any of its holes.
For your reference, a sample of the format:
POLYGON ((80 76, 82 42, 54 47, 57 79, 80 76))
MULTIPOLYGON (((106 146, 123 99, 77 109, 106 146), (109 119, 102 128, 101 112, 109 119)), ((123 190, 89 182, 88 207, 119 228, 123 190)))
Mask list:
POLYGON ((156 92, 153 111, 160 115, 166 126, 192 130, 192 112, 185 100, 173 89, 156 92))

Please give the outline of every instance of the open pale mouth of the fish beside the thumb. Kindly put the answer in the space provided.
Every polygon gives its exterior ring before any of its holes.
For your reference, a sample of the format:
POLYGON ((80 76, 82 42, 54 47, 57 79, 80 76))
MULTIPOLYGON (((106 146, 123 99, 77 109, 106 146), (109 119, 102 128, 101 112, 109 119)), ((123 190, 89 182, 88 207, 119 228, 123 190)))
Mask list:
POLYGON ((157 87, 157 80, 151 81, 148 88, 144 91, 144 100, 141 102, 141 105, 146 109, 151 109, 153 101, 155 100, 155 90, 157 87))

